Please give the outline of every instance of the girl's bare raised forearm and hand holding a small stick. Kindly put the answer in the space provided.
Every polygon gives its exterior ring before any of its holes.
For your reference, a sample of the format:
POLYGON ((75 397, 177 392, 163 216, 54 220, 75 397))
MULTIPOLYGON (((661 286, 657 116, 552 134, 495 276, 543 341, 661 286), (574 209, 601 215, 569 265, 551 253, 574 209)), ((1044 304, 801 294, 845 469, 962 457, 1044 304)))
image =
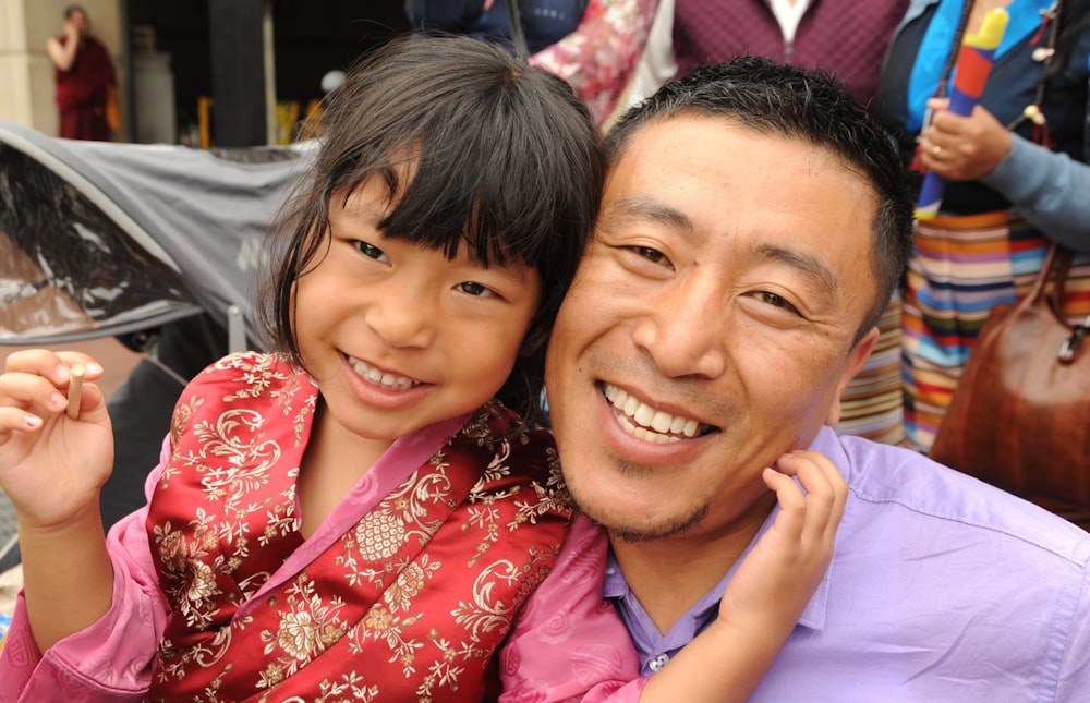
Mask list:
POLYGON ((15 507, 26 615, 38 650, 98 620, 110 608, 113 566, 98 496, 113 465, 106 400, 84 384, 69 416, 71 367, 102 375, 76 352, 20 351, 0 376, 0 487, 15 507))

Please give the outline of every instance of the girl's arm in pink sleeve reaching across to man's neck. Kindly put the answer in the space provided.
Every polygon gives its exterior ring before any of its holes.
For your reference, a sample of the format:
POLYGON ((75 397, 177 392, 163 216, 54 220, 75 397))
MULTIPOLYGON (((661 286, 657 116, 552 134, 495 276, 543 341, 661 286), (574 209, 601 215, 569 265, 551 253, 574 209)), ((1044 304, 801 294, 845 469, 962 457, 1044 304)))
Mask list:
POLYGON ((640 677, 628 632, 602 598, 605 533, 577 516, 556 567, 500 653, 500 700, 746 700, 828 568, 848 493, 836 468, 816 452, 791 452, 777 465, 764 480, 780 511, 739 565, 718 619, 651 677, 640 677))

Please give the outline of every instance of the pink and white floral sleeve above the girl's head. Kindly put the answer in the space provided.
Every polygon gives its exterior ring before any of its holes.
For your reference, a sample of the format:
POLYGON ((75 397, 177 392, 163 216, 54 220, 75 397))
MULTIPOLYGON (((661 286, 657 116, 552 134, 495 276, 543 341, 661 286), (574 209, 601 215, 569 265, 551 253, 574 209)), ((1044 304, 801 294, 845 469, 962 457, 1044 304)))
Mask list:
POLYGON ((591 0, 574 32, 530 57, 565 78, 601 125, 643 51, 657 0, 591 0))

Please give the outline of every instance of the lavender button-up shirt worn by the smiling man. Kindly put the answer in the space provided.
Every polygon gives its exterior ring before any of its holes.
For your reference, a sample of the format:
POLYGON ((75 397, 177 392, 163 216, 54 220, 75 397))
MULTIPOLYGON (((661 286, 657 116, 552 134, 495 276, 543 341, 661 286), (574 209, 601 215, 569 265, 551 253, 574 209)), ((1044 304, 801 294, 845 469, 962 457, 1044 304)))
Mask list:
MULTIPOLYGON (((1090 700, 1090 534, 906 449, 827 427, 811 449, 849 486, 836 555, 752 701, 1090 700)), ((609 558, 643 675, 732 575, 663 635, 609 558)))

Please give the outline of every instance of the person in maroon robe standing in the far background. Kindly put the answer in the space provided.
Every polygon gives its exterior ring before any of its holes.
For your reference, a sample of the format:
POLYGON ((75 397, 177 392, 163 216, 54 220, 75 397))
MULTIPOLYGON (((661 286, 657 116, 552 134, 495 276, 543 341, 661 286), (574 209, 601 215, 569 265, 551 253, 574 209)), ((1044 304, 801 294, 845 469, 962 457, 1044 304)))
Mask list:
POLYGON ((90 20, 83 8, 64 10, 64 34, 50 37, 46 52, 56 69, 60 136, 109 141, 109 120, 114 119, 108 110, 109 93, 117 80, 109 52, 90 36, 90 20))

